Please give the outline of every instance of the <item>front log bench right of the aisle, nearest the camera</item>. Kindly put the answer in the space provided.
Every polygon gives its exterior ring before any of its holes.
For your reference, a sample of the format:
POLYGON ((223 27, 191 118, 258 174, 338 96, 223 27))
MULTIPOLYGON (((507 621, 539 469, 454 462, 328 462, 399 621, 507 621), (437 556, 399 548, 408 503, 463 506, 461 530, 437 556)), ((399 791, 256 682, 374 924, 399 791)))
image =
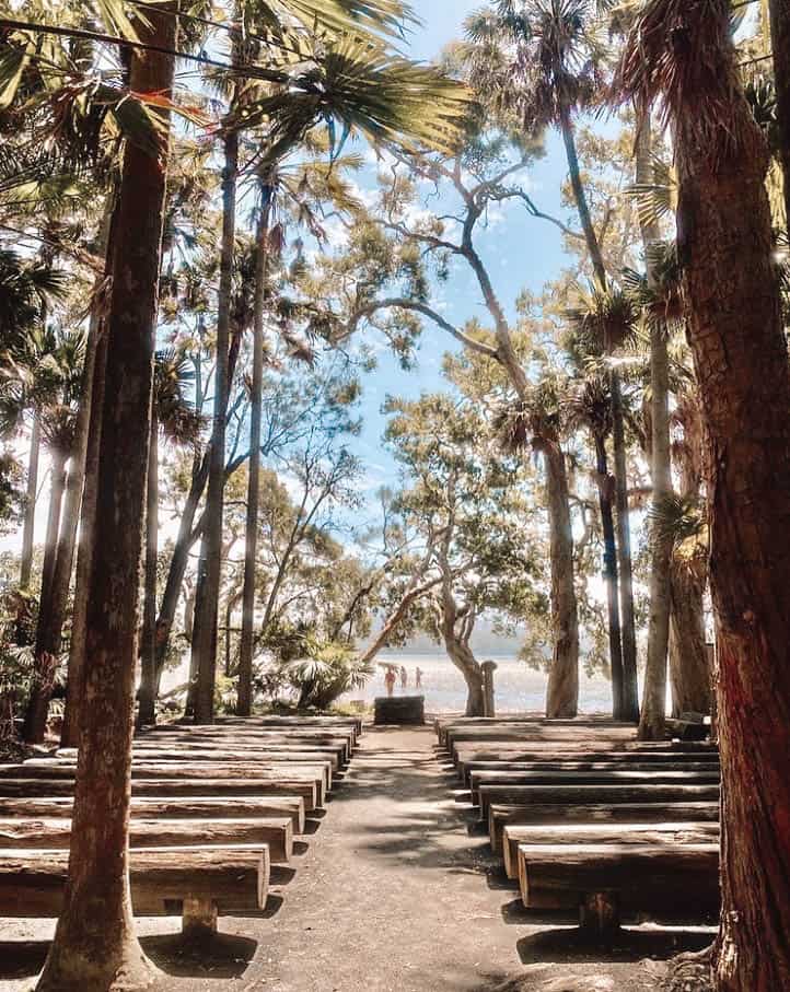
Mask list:
POLYGON ((686 920, 718 912, 718 844, 535 844, 523 850, 524 906, 578 910, 580 926, 591 936, 616 933, 626 912, 686 920))

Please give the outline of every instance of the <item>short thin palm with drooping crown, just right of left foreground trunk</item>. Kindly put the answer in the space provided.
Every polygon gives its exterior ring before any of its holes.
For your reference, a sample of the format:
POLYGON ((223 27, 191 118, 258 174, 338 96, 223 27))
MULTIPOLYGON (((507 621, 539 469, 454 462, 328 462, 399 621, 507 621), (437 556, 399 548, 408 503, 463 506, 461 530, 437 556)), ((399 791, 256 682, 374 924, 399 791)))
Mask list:
POLYGON ((151 433, 148 450, 148 491, 146 499, 146 582, 143 591, 140 644, 140 690, 137 722, 155 722, 161 669, 156 664, 156 572, 159 562, 159 451, 160 435, 165 442, 194 445, 200 436, 202 419, 188 397, 195 371, 175 349, 154 355, 151 433))

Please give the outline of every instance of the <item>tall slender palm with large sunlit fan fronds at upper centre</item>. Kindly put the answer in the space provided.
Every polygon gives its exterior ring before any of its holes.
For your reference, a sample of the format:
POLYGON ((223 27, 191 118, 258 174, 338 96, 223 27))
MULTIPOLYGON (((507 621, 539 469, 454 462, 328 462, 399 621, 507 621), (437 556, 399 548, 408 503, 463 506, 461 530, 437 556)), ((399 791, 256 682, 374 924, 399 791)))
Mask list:
MULTIPOLYGON (((340 37, 327 45, 324 39, 316 42, 306 36, 294 39, 292 44, 297 46, 294 66, 306 61, 311 68, 303 75, 290 78, 288 86, 275 89, 274 92, 269 87, 257 97, 245 96, 239 107, 232 106, 225 121, 214 419, 193 637, 191 667, 197 673, 194 692, 196 723, 212 717, 217 670, 217 604, 228 408, 228 369, 223 359, 228 343, 226 328, 220 322, 224 293, 230 294, 233 262, 234 224, 231 213, 235 209, 235 175, 239 167, 237 129, 266 126, 266 144, 259 151, 265 166, 281 161, 321 122, 326 124, 330 136, 335 133, 336 124, 340 124, 346 135, 360 133, 377 143, 399 142, 406 148, 427 144, 446 151, 460 137, 458 126, 468 105, 466 91, 439 71, 418 67, 380 46, 372 46, 363 38, 340 37), (303 89, 294 89, 294 84, 298 87, 300 82, 303 89)), ((335 151, 333 148, 333 153, 335 151)))

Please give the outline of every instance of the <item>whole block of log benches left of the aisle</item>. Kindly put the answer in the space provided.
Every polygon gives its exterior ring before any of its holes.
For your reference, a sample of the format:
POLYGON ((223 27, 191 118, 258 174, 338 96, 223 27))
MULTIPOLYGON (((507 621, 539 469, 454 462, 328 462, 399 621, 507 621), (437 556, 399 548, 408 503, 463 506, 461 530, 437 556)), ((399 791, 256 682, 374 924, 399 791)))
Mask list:
MULTIPOLYGON (((266 907, 272 864, 320 813, 361 722, 229 719, 135 742, 130 888, 137 915, 181 912, 187 932, 266 907)), ((57 917, 68 873, 75 751, 0 766, 0 918, 57 917)))

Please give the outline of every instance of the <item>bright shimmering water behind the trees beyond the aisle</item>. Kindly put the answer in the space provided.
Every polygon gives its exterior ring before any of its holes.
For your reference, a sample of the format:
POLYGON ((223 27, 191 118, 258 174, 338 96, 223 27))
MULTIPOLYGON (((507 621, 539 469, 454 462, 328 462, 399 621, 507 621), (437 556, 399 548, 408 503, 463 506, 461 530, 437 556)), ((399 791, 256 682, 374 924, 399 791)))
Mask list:
MULTIPOLYGON (((486 658, 497 663, 493 673, 495 705, 497 713, 543 712, 546 705, 548 675, 535 672, 513 655, 486 658)), ((362 689, 356 689, 341 698, 341 702, 362 700, 372 703, 376 696, 386 696, 385 669, 381 663, 405 667, 408 682, 395 685, 395 695, 421 693, 426 697, 426 709, 430 712, 457 711, 466 705, 466 684, 458 669, 445 654, 409 654, 408 652, 382 653, 379 655, 376 673, 362 689), (416 669, 422 672, 422 686, 417 689, 416 669)), ((579 711, 581 713, 612 713, 612 684, 597 675, 586 678, 582 673, 579 681, 579 711)))

